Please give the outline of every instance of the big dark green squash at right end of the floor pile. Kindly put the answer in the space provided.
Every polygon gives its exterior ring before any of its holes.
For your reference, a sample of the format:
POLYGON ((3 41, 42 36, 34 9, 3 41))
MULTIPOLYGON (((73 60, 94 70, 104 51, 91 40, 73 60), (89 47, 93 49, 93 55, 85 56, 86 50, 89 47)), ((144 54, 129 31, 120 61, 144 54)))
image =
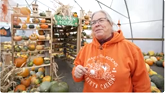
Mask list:
POLYGON ((66 82, 58 81, 51 85, 50 92, 69 92, 69 86, 66 82))

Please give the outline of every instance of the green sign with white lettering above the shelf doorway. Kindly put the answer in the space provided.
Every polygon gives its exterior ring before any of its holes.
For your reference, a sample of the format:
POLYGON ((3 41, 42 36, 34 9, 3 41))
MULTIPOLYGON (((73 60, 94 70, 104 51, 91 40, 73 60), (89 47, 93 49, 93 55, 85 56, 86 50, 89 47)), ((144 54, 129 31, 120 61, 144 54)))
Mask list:
POLYGON ((55 15, 56 25, 78 26, 78 18, 70 16, 55 15))

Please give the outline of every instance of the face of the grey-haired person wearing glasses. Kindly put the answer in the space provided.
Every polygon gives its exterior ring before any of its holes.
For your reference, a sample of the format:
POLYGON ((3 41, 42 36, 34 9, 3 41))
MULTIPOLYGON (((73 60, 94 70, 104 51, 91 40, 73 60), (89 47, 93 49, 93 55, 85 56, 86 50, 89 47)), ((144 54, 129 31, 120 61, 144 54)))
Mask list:
POLYGON ((93 16, 91 21, 93 35, 98 40, 105 40, 109 38, 112 31, 112 25, 106 19, 106 16, 102 12, 98 12, 93 16))

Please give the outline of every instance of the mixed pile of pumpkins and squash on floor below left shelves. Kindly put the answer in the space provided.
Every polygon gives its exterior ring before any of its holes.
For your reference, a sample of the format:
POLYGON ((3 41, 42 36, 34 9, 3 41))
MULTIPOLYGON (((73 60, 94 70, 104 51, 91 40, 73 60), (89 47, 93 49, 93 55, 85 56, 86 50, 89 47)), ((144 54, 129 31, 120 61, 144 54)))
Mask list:
POLYGON ((69 86, 66 82, 55 81, 49 75, 45 75, 45 68, 23 68, 15 79, 16 86, 8 92, 68 92, 69 86))

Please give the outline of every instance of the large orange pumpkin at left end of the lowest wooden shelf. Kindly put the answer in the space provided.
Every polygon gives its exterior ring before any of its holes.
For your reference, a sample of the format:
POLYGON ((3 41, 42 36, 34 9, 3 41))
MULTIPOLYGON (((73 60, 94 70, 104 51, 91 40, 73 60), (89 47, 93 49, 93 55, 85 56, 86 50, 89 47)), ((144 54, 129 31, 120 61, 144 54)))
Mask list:
POLYGON ((23 67, 26 64, 26 58, 23 57, 15 58, 14 64, 16 67, 23 67))

